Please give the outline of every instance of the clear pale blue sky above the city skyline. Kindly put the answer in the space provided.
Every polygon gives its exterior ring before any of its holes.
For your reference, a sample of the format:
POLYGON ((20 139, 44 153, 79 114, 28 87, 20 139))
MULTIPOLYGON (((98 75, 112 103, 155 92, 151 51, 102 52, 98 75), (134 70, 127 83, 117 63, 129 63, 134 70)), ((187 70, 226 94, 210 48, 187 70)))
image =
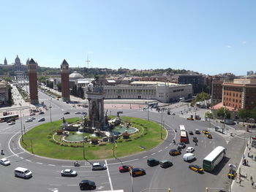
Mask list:
POLYGON ((3 0, 0 63, 256 70, 255 0, 3 0))

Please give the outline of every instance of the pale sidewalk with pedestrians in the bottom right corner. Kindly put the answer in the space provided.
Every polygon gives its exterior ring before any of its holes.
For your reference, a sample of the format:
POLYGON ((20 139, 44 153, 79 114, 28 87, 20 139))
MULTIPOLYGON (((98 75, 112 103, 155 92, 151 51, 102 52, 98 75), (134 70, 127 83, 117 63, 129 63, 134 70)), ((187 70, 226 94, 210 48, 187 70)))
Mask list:
POLYGON ((233 180, 233 183, 231 185, 232 192, 256 191, 256 161, 254 160, 256 156, 256 148, 252 147, 249 142, 248 144, 248 147, 246 147, 246 150, 244 151, 244 158, 243 160, 241 160, 241 163, 239 164, 237 169, 238 176, 235 178, 235 180, 233 180), (242 164, 242 161, 244 161, 244 159, 248 161, 248 166, 242 164), (239 171, 241 177, 239 177, 239 171))

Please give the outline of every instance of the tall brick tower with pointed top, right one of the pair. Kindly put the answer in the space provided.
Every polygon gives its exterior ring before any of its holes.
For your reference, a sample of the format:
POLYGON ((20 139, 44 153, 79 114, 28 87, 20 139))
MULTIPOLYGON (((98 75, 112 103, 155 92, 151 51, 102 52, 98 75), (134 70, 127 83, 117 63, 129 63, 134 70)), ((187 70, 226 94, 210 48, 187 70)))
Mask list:
POLYGON ((69 64, 64 59, 61 64, 61 96, 63 101, 70 101, 69 98, 69 64))

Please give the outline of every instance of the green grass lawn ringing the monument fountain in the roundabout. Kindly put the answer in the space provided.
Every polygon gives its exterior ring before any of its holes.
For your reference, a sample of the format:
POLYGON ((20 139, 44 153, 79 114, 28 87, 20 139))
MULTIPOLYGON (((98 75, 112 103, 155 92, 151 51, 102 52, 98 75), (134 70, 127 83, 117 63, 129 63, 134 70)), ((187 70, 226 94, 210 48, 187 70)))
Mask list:
MULTIPOLYGON (((67 122, 75 122, 79 118, 67 119, 67 122)), ((140 153, 144 150, 149 150, 152 147, 159 145, 162 142, 161 126, 157 123, 143 120, 140 118, 122 117, 123 123, 129 122, 132 127, 138 128, 139 132, 132 134, 129 139, 116 140, 115 147, 116 157, 140 153)), ((68 144, 67 146, 57 145, 50 142, 53 139, 53 134, 61 126, 62 120, 54 121, 53 123, 45 123, 36 126, 23 135, 23 142, 20 144, 24 149, 34 154, 49 157, 61 158, 70 160, 83 159, 83 143, 68 144), (70 147, 72 145, 72 147, 70 147), (31 147, 32 146, 32 147, 31 147)), ((166 137, 166 131, 162 131, 162 138, 166 137)), ((58 139, 58 137, 55 137, 58 139)), ((85 147, 87 159, 105 159, 113 158, 113 144, 104 142, 102 146, 90 145, 86 143, 85 147)))

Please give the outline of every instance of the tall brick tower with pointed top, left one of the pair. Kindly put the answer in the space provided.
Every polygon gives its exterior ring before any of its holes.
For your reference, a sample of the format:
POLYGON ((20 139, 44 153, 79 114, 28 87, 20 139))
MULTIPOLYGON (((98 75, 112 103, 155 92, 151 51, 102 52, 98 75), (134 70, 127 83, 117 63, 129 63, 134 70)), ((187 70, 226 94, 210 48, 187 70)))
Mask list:
POLYGON ((37 91, 37 63, 33 58, 29 61, 29 93, 30 103, 38 104, 38 91, 37 91))

